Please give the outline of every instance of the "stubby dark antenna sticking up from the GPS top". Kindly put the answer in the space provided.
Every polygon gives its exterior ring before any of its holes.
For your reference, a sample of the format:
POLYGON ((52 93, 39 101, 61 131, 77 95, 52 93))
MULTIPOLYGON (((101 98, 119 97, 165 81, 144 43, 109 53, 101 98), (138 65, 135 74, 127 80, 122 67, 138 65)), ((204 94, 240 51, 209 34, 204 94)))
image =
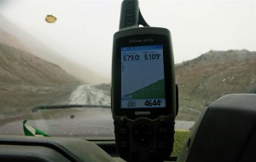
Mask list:
POLYGON ((125 28, 136 28, 139 25, 148 26, 144 20, 137 0, 124 0, 121 7, 119 31, 125 28))

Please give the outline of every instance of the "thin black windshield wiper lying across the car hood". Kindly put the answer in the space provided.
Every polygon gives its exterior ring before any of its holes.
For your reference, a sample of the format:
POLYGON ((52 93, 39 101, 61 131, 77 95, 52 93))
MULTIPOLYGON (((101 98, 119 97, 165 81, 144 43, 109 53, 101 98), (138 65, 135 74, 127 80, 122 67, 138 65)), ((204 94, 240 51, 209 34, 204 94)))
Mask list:
POLYGON ((62 109, 62 108, 110 108, 110 106, 105 105, 47 105, 47 106, 38 106, 32 109, 32 113, 41 111, 41 110, 49 110, 49 109, 62 109))

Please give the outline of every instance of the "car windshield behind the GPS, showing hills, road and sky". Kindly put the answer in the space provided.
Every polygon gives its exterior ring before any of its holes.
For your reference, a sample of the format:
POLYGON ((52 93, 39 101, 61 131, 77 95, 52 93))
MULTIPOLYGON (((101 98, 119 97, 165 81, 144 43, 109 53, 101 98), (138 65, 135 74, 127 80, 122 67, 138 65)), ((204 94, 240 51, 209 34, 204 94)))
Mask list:
MULTIPOLYGON (((113 140, 111 65, 121 0, 0 0, 0 134, 113 140)), ((212 102, 256 92, 256 1, 140 0, 172 34, 179 111, 190 130, 212 102)))

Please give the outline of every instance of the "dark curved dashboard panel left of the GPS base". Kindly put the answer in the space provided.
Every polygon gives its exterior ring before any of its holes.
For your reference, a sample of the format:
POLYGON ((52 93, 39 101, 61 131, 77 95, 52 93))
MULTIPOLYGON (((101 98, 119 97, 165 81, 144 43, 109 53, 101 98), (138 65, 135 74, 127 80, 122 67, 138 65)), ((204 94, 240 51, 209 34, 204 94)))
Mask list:
POLYGON ((82 139, 38 136, 0 136, 0 161, 111 162, 95 143, 82 139))

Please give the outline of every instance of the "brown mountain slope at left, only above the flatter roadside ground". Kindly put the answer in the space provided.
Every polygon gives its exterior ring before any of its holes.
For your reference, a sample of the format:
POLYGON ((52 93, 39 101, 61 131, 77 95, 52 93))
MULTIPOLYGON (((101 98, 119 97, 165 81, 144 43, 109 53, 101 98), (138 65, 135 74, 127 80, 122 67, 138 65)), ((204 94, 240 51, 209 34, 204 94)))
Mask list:
POLYGON ((6 84, 79 84, 61 67, 4 43, 0 43, 0 71, 0 82, 6 84))

